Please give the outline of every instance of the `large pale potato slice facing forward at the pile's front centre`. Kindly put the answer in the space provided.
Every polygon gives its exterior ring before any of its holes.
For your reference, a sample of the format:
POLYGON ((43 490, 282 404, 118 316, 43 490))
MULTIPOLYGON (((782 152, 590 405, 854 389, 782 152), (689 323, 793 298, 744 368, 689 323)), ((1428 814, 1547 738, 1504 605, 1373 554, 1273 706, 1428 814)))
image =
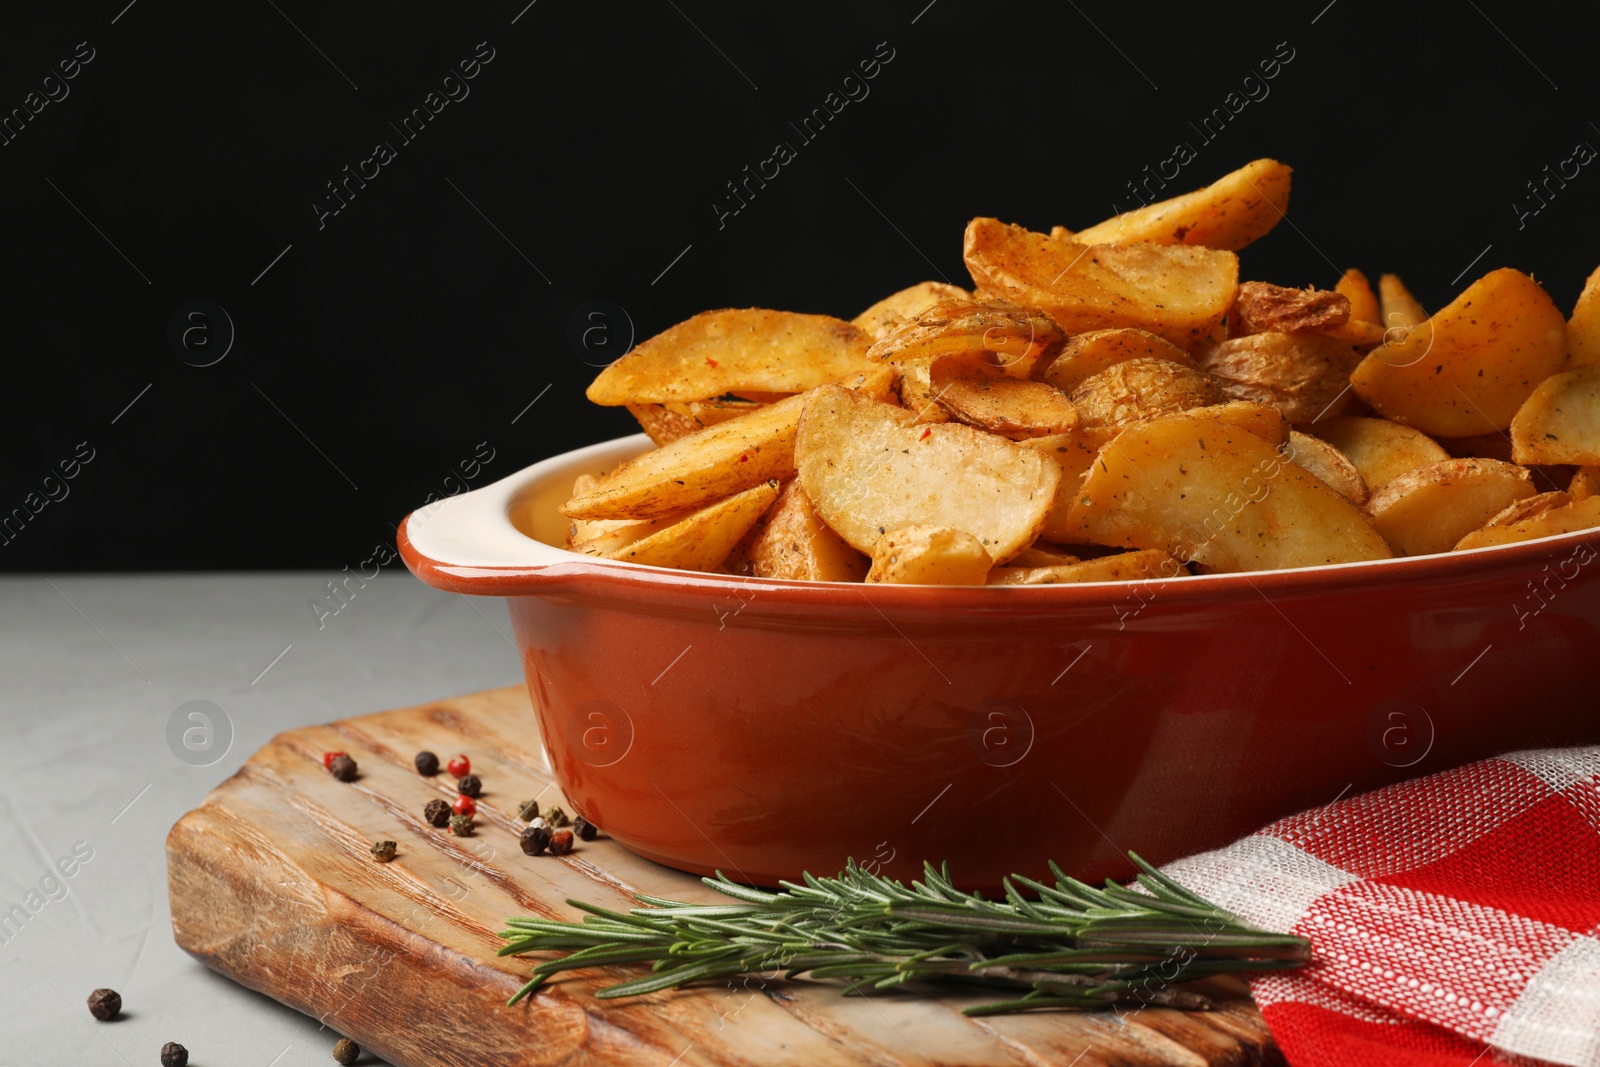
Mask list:
POLYGON ((901 526, 965 530, 997 563, 1032 544, 1061 469, 994 434, 912 418, 835 386, 810 395, 795 461, 822 520, 862 552, 901 526))

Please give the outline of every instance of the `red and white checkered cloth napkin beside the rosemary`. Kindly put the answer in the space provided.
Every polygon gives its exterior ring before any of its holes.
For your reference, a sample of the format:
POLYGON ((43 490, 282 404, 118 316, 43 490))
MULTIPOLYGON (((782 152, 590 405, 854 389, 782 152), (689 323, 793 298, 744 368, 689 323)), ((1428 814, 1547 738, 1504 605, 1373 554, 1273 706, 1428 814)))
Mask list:
POLYGON ((1251 982, 1294 1067, 1600 1067, 1600 747, 1483 760, 1165 867, 1312 965, 1251 982))

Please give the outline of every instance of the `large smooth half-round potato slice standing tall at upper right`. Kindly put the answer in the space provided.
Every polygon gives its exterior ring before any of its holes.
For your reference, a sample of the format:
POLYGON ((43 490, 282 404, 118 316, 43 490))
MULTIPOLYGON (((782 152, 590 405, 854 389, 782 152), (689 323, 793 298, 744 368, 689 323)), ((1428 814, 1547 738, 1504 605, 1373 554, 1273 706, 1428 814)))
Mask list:
MULTIPOLYGON (((1387 312, 1386 312, 1387 314, 1387 312)), ((1566 362, 1566 320, 1539 283, 1502 267, 1403 339, 1378 346, 1350 386, 1379 414, 1435 437, 1504 430, 1566 362)))

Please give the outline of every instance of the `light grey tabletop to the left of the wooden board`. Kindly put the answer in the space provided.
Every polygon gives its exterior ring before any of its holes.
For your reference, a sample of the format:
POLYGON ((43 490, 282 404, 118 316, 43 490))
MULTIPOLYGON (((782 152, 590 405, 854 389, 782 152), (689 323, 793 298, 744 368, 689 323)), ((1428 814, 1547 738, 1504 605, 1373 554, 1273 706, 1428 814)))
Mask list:
POLYGON ((0 1064, 333 1062, 336 1033, 173 942, 166 830, 282 729, 522 672, 498 600, 384 571, 318 619, 331 577, 0 577, 0 1064), (190 701, 219 713, 186 749, 190 701), (88 1014, 101 985, 122 1021, 88 1014))

